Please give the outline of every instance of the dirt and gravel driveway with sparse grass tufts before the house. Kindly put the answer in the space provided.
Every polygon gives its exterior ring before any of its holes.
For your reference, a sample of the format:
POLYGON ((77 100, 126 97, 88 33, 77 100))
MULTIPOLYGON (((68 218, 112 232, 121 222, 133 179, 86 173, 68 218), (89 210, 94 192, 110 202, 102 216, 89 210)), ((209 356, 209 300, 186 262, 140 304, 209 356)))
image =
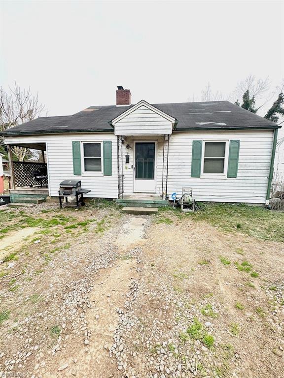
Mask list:
POLYGON ((0 221, 0 377, 284 377, 283 243, 170 210, 0 221))

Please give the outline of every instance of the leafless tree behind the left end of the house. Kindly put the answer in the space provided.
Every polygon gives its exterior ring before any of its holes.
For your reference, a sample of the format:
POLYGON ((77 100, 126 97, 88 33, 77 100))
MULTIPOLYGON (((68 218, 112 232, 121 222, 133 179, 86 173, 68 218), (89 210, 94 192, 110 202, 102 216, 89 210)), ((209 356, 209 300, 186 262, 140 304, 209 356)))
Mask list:
MULTIPOLYGON (((39 117, 44 110, 38 100, 38 93, 32 95, 31 89, 21 90, 15 82, 14 88, 9 87, 9 92, 5 92, 0 87, 0 130, 6 130, 13 126, 24 124, 39 117)), ((19 161, 23 161, 27 155, 27 148, 12 148, 13 154, 19 161)))

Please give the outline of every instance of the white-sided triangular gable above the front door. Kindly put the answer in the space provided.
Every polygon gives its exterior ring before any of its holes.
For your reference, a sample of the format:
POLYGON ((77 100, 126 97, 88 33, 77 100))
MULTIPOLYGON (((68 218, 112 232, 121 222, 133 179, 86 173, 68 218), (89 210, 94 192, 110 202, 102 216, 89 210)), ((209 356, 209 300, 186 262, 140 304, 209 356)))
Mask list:
POLYGON ((172 122, 142 105, 115 123, 116 135, 163 135, 172 133, 172 122))

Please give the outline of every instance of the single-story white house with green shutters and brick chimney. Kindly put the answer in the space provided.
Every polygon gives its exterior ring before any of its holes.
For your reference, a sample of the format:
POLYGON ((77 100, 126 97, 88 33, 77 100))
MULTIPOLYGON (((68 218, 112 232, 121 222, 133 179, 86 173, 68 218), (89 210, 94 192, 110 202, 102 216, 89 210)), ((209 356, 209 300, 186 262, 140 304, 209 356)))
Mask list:
MULTIPOLYGON (((132 105, 130 90, 118 87, 116 105, 40 117, 1 134, 10 160, 12 146, 45 152, 41 192, 51 197, 68 179, 81 180, 89 197, 165 199, 191 187, 197 201, 265 204, 279 127, 229 101, 132 105)), ((24 164, 10 161, 15 195, 35 187, 24 164)))

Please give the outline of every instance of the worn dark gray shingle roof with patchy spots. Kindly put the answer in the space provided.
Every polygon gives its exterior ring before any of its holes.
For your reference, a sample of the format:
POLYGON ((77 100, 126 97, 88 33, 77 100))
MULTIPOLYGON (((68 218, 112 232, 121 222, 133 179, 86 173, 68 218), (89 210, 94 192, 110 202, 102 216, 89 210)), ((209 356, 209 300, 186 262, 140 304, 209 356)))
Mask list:
MULTIPOLYGON (((152 104, 178 120, 176 130, 276 128, 275 123, 229 101, 152 104)), ((40 117, 15 126, 3 135, 48 134, 57 132, 113 131, 108 122, 130 106, 90 106, 72 116, 40 117)))

